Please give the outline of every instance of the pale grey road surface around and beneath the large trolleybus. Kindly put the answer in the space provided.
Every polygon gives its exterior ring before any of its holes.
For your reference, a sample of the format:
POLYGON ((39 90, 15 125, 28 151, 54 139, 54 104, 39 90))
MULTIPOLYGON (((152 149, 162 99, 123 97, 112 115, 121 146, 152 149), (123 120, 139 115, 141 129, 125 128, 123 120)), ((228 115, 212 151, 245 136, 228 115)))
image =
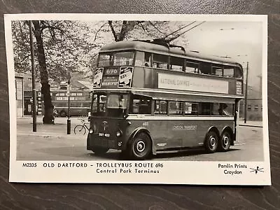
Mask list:
MULTIPOLYGON (((43 125, 38 117, 37 132, 32 132, 32 119, 17 120, 17 160, 122 160, 120 151, 109 150, 97 156, 86 150, 87 135, 73 134, 73 127, 80 124, 78 118, 71 119, 71 134, 66 134, 66 119, 57 118, 55 125, 43 125)), ((152 160, 176 161, 262 161, 262 127, 239 127, 239 145, 232 146, 227 153, 207 154, 203 149, 190 149, 179 153, 160 153, 152 160)), ((265 139, 268 141, 268 139, 265 139)))

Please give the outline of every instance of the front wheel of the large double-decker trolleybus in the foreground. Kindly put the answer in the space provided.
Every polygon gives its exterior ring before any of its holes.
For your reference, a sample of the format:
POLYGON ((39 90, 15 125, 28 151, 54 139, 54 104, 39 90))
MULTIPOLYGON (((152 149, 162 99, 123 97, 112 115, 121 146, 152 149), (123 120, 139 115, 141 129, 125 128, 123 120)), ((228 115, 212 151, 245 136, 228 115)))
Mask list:
POLYGON ((152 142, 144 132, 137 134, 130 145, 130 157, 134 160, 145 160, 151 155, 152 142))

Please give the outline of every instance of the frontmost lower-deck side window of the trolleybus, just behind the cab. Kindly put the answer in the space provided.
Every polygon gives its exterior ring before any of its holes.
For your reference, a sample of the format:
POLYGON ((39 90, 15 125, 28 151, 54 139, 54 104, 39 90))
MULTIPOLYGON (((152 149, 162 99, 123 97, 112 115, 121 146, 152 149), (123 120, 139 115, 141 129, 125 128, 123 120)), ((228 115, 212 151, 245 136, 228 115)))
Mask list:
POLYGON ((151 114, 152 100, 148 97, 134 96, 130 113, 134 114, 151 114))

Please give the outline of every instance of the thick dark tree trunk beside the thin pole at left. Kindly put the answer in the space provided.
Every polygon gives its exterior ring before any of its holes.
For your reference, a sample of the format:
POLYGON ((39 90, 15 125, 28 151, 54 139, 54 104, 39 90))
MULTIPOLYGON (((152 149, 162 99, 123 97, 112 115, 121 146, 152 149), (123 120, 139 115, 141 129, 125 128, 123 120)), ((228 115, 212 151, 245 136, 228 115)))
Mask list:
POLYGON ((50 85, 48 83, 48 71, 47 66, 45 64, 45 50, 43 48, 43 37, 42 37, 42 29, 40 27, 40 22, 38 20, 33 20, 34 25, 34 35, 37 43, 37 57, 39 63, 40 70, 40 79, 41 79, 41 93, 43 94, 43 102, 44 102, 44 110, 45 115, 43 117, 44 124, 52 124, 53 123, 53 106, 52 99, 50 97, 50 85))

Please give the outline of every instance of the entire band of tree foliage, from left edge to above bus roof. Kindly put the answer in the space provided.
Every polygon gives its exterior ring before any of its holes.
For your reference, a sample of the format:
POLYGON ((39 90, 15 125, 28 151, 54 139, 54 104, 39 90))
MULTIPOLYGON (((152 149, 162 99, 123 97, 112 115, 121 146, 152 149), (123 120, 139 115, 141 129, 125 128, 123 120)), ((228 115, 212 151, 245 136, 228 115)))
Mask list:
MULTIPOLYGON (((39 22, 43 34, 48 77, 57 82, 68 78, 69 72, 78 71, 85 76, 91 76, 96 68, 99 49, 102 45, 113 41, 165 38, 174 44, 188 45, 185 34, 181 33, 189 22, 126 20, 39 22)), ((29 27, 26 21, 13 21, 12 27, 15 71, 29 72, 31 71, 29 27)), ((34 45, 36 55, 38 53, 36 42, 34 45)), ((39 69, 37 56, 36 69, 39 69)))

